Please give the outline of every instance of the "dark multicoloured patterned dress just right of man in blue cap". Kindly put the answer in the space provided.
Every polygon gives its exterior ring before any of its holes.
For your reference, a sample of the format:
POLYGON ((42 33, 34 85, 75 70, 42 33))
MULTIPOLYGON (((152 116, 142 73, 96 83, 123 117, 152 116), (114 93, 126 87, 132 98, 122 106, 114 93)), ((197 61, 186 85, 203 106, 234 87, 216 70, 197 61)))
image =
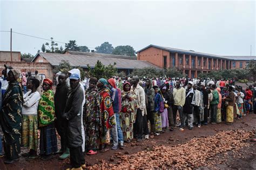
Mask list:
POLYGON ((99 149, 101 120, 99 92, 96 89, 87 89, 85 91, 83 123, 85 127, 85 146, 88 151, 99 149))

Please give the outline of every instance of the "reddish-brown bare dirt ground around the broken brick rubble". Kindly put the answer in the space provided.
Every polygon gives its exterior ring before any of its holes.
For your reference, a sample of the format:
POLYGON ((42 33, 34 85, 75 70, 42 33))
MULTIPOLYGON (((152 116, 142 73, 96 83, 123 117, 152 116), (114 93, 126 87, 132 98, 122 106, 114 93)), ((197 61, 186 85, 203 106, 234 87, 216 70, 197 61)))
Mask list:
MULTIPOLYGON (((256 127, 256 114, 248 114, 240 120, 234 120, 233 125, 226 125, 224 122, 217 125, 205 125, 201 128, 194 127, 193 130, 187 130, 180 132, 178 128, 174 129, 173 132, 165 132, 160 134, 158 137, 149 140, 143 140, 143 142, 132 141, 131 143, 125 143, 125 149, 117 149, 116 151, 109 150, 105 153, 98 153, 96 155, 85 155, 85 161, 87 167, 95 164, 101 164, 106 161, 111 164, 117 164, 120 158, 113 157, 116 153, 122 153, 124 155, 136 154, 139 151, 150 150, 153 146, 180 146, 180 144, 186 144, 193 138, 207 138, 218 132, 230 131, 230 130, 245 130, 255 132, 256 127), (114 159, 110 159, 114 158, 114 159)), ((239 152, 227 151, 215 155, 212 160, 217 162, 214 165, 216 169, 256 169, 256 142, 250 140, 245 141, 248 145, 240 148, 239 152)), ((25 152, 23 149, 22 152, 25 152)), ((203 152, 203 151, 202 151, 203 152)), ((36 159, 33 161, 25 161, 23 157, 18 162, 11 165, 0 164, 0 169, 65 169, 69 168, 69 159, 64 161, 58 160, 59 155, 55 155, 55 158, 48 161, 36 159)), ((4 158, 0 159, 2 162, 4 158)), ((3 163, 3 162, 2 162, 3 163)), ((212 169, 211 166, 199 167, 198 169, 212 169)))

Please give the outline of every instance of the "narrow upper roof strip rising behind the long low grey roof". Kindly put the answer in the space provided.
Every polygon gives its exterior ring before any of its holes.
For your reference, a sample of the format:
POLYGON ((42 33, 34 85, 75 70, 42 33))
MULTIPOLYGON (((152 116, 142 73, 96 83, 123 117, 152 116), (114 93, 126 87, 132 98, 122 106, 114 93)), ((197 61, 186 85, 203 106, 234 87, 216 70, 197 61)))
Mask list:
POLYGON ((107 57, 107 58, 123 58, 123 59, 137 59, 137 57, 132 56, 121 56, 121 55, 108 55, 104 53, 96 53, 96 52, 79 52, 79 51, 67 51, 71 55, 83 55, 83 56, 91 56, 91 57, 107 57))

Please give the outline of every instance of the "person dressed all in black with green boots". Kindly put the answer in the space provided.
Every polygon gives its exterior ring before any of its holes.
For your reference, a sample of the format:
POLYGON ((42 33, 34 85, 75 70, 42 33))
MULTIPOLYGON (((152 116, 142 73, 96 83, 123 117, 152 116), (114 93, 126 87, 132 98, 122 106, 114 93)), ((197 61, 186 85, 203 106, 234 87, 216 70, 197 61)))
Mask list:
POLYGON ((69 87, 66 85, 66 74, 60 73, 58 75, 58 84, 56 86, 56 91, 54 94, 54 105, 55 105, 55 115, 57 120, 55 121, 55 126, 58 134, 60 135, 60 150, 56 152, 57 154, 62 154, 59 159, 66 159, 69 157, 69 148, 67 146, 66 139, 66 127, 68 126, 68 121, 63 119, 63 114, 65 113, 65 106, 67 95, 69 92, 69 87))

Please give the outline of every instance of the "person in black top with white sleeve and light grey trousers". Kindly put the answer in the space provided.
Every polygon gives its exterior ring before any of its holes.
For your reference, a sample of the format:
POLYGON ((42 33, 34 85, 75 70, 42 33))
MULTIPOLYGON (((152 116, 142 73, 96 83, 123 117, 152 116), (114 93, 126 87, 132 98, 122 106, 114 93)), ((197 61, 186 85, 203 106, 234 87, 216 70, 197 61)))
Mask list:
POLYGON ((188 81, 186 88, 186 100, 183 107, 184 115, 187 117, 188 130, 192 130, 193 128, 194 90, 192 86, 193 82, 188 81))

